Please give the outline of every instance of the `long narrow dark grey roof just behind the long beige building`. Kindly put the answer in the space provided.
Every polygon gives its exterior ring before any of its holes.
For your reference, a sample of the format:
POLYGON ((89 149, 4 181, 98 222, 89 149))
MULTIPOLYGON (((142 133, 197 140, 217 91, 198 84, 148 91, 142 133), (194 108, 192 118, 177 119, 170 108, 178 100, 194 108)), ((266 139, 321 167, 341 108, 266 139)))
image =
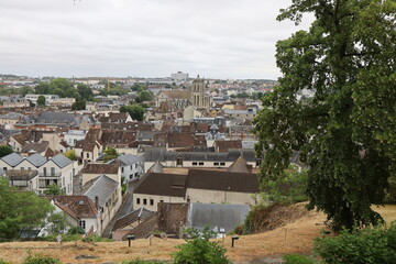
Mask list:
POLYGON ((213 162, 233 162, 239 156, 243 156, 246 162, 255 162, 254 150, 230 148, 226 153, 217 152, 167 152, 164 147, 153 147, 145 151, 146 162, 176 161, 176 156, 182 155, 183 161, 213 161, 213 162))

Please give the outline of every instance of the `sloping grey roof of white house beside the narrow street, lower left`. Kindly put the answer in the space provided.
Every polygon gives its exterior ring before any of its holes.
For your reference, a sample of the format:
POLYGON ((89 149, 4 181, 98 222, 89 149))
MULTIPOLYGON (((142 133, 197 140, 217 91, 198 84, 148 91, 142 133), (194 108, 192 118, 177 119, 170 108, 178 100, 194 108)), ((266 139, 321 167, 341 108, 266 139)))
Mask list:
POLYGON ((111 195, 114 193, 119 184, 109 178, 106 175, 100 175, 99 177, 89 180, 82 186, 81 194, 89 197, 95 202, 95 197, 99 198, 99 207, 105 207, 106 201, 109 200, 111 195))

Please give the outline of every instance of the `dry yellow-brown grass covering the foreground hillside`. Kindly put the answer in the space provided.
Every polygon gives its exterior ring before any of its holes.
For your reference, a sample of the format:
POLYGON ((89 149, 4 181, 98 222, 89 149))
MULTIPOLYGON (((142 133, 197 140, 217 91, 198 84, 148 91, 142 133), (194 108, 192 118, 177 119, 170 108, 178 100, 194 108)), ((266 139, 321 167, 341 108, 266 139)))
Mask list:
MULTIPOLYGON (((381 207, 376 210, 387 222, 396 220, 396 206, 381 207)), ((324 220, 324 215, 311 211, 297 221, 273 231, 240 237, 235 248, 231 248, 231 239, 227 238, 224 241, 227 254, 233 261, 249 261, 284 253, 309 253, 314 246, 314 238, 319 237, 323 228, 317 223, 322 223, 324 220)), ((136 240, 132 242, 132 248, 128 248, 128 242, 106 242, 97 245, 85 242, 68 242, 62 245, 55 242, 12 242, 0 244, 0 258, 21 263, 31 251, 33 254, 56 256, 63 263, 122 262, 135 257, 169 260, 169 253, 182 243, 184 243, 182 240, 153 239, 150 245, 148 240, 136 240), (75 260, 77 255, 92 255, 99 258, 75 260)))

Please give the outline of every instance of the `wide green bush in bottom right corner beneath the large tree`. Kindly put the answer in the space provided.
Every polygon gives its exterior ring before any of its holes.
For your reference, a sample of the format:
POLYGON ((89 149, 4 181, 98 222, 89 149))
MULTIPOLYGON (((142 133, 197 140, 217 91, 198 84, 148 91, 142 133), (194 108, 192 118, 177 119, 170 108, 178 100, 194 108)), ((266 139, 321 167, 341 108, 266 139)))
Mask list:
POLYGON ((328 264, 396 263, 396 226, 354 228, 336 238, 316 239, 315 252, 328 264))

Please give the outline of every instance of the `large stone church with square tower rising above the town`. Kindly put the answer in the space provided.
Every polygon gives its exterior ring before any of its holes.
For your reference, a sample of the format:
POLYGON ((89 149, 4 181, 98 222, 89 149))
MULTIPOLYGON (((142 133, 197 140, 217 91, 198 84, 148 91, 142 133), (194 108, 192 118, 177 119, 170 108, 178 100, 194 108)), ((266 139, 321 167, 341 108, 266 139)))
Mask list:
POLYGON ((205 79, 198 77, 193 80, 190 89, 186 90, 162 90, 156 96, 156 106, 161 106, 161 102, 172 102, 175 107, 184 109, 188 106, 193 106, 197 109, 210 108, 210 96, 206 95, 205 79))

